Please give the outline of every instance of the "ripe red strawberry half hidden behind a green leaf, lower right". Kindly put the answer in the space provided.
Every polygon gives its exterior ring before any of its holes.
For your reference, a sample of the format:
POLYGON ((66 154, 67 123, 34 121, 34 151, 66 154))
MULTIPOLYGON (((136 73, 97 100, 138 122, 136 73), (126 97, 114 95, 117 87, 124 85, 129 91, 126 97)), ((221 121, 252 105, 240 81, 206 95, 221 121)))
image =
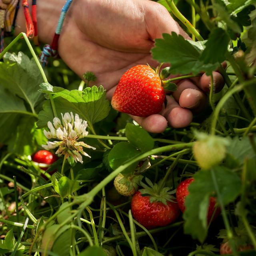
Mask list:
MULTIPOLYGON (((194 181, 193 178, 188 178, 188 179, 184 180, 183 182, 181 182, 179 184, 179 186, 177 187, 176 200, 177 200, 178 206, 180 207, 180 210, 182 212, 185 211, 185 199, 186 199, 186 196, 189 194, 188 186, 193 181, 194 181)), ((210 197, 208 215, 207 215, 208 223, 210 222, 210 220, 212 218, 212 214, 214 213, 215 204, 216 204, 216 199, 214 197, 210 197)), ((215 211, 213 220, 216 219, 219 214, 220 214, 220 208, 217 208, 216 211, 215 211)))

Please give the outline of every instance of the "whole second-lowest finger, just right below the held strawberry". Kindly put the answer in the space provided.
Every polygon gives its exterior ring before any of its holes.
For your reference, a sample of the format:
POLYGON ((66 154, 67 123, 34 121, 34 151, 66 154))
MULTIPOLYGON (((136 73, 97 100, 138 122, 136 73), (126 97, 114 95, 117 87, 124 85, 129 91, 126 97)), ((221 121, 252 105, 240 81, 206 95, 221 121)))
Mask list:
POLYGON ((167 96, 167 106, 161 111, 161 114, 166 118, 168 125, 173 128, 183 128, 192 122, 192 112, 187 108, 182 108, 174 100, 174 98, 167 96))

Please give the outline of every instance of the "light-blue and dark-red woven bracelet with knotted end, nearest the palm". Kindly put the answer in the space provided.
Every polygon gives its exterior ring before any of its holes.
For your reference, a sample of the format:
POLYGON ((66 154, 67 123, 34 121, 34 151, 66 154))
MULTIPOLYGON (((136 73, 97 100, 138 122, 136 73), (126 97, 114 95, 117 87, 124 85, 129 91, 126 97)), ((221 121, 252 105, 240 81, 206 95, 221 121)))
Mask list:
POLYGON ((48 58, 49 57, 56 57, 57 56, 57 50, 58 50, 58 40, 60 37, 60 32, 62 30, 62 26, 63 26, 63 22, 66 16, 66 13, 68 12, 68 9, 71 5, 73 0, 67 0, 66 4, 63 6, 61 14, 60 14, 60 18, 58 20, 58 25, 57 28, 55 30, 55 34, 54 37, 52 39, 52 43, 51 44, 46 44, 41 52, 40 55, 40 61, 42 63, 42 66, 46 66, 48 63, 48 58))

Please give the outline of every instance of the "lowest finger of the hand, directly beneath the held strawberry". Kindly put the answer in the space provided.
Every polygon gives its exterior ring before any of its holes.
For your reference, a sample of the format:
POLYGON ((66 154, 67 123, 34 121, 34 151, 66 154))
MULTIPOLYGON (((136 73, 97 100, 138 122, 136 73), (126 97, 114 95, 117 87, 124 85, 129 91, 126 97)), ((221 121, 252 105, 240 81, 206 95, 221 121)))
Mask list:
POLYGON ((153 114, 148 117, 140 117, 140 116, 132 116, 133 120, 135 120, 142 128, 147 130, 148 132, 160 133, 164 132, 167 127, 167 120, 164 116, 160 114, 153 114))

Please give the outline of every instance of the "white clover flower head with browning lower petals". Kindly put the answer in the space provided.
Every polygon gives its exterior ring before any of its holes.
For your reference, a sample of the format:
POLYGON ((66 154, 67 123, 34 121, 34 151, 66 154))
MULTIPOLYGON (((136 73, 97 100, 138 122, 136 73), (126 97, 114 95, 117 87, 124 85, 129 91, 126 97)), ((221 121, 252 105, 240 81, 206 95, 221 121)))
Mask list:
POLYGON ((79 118, 78 114, 74 115, 72 112, 65 113, 62 116, 62 123, 59 118, 54 117, 53 124, 48 122, 48 128, 50 132, 44 130, 44 135, 46 138, 58 139, 58 141, 47 142, 47 145, 42 145, 42 147, 46 150, 50 150, 53 148, 57 148, 58 150, 55 152, 56 154, 64 155, 64 158, 68 158, 71 156, 74 158, 75 162, 81 162, 82 155, 90 157, 86 152, 84 152, 84 148, 92 148, 96 149, 92 146, 85 144, 82 141, 77 141, 81 138, 84 138, 88 135, 86 131, 87 122, 79 118))

